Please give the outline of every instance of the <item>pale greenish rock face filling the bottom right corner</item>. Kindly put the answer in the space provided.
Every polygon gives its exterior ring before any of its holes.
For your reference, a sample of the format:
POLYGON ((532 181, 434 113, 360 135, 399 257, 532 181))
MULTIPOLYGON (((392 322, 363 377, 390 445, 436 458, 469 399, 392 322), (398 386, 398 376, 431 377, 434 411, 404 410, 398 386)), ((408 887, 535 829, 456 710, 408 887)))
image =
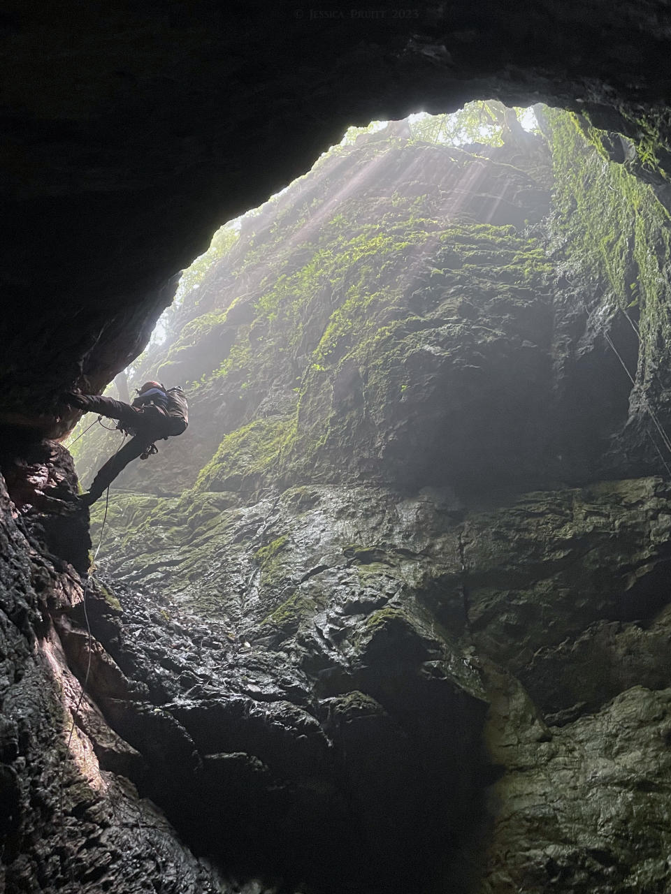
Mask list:
POLYGON ((497 689, 506 772, 483 890, 667 890, 669 689, 629 688, 535 735, 523 690, 497 689))

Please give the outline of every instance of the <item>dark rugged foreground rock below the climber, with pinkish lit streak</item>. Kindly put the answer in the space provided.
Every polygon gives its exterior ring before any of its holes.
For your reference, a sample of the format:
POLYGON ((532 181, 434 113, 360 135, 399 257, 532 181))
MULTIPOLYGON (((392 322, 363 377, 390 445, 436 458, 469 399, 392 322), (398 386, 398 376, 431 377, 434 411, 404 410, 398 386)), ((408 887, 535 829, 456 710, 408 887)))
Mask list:
MULTIPOLYGON (((45 479, 72 477, 67 451, 57 445, 36 467, 45 479)), ((140 891, 151 873, 175 894, 233 890, 185 851, 128 779, 143 758, 110 729, 90 693, 98 686, 131 699, 138 693, 98 644, 86 670, 87 634, 68 620, 71 612, 81 620, 77 569, 45 548, 43 530, 17 518, 4 481, 0 512, 3 890, 140 891), (89 693, 82 694, 87 678, 89 693)), ((79 527, 86 544, 86 527, 79 527)), ((109 619, 98 585, 89 585, 88 599, 101 624, 109 619)))

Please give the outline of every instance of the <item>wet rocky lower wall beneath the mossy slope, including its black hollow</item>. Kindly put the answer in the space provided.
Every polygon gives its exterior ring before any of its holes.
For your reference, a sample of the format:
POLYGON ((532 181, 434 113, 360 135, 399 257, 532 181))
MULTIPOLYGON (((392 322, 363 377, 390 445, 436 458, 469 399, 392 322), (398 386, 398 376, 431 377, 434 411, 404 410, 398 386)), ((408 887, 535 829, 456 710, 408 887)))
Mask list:
MULTIPOLYGON (((222 513, 209 577, 203 566, 188 586, 195 544, 155 518, 156 540, 143 546, 169 551, 169 569, 137 556, 106 563, 123 604, 123 645, 107 648, 182 728, 186 778, 151 797, 169 811, 175 788, 195 791, 211 829, 226 791, 240 792, 259 828, 264 815, 282 817, 263 854, 291 852, 293 869, 299 841, 342 873, 353 835, 387 890, 390 866, 398 890, 411 876, 421 890, 480 890, 474 848, 489 854, 482 890, 661 884, 670 506, 659 479, 531 493, 456 519, 446 491, 312 487, 306 499, 290 489, 222 513), (292 829, 288 804, 315 823, 327 816, 327 842, 292 829), (446 822, 450 807, 463 813, 446 822), (608 825, 595 826, 604 812, 608 825), (633 814, 641 843, 625 845, 633 814), (408 841, 420 850, 409 855, 408 841)), ((119 554, 114 521, 108 536, 119 554)), ((200 826, 185 818, 185 797, 174 822, 191 840, 200 826)), ((238 832, 251 822, 234 817, 238 832)), ((234 837, 239 848, 245 838, 234 837)), ((207 834, 199 840, 207 850, 207 834)), ((377 890, 374 878, 338 878, 377 890)))

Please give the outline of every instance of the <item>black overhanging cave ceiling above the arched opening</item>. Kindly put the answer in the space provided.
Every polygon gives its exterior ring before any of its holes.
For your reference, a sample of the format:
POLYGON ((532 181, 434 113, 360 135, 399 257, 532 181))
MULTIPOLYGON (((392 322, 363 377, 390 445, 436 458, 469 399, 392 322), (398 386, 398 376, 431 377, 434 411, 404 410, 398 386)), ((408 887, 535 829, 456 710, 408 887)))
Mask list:
MULTIPOLYGON (((4 4, 3 421, 137 356, 175 274, 352 123, 544 101, 654 131, 662 0, 4 4)), ((666 140, 666 142, 665 142, 666 140)))

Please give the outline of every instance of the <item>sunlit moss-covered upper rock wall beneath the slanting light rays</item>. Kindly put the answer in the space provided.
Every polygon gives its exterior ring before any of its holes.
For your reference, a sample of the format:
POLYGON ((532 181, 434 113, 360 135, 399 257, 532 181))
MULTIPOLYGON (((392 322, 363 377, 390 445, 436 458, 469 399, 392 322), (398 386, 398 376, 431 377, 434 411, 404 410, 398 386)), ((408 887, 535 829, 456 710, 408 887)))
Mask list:
MULTIPOLYGON (((473 126, 496 117, 484 105, 464 114, 473 126)), ((526 232, 548 207, 542 141, 490 147, 489 158, 416 123, 411 138, 398 127, 360 134, 219 231, 183 280, 191 288, 165 344, 135 370, 137 381, 186 388, 190 430, 166 446, 174 466, 182 461, 168 472, 162 458, 136 464, 119 485, 161 493, 163 473, 206 493, 378 475, 388 426, 415 436, 419 374, 409 358, 474 367, 446 354, 446 337, 471 344, 482 337, 476 317, 509 325, 511 308, 545 295, 542 240, 526 232)), ((83 452, 89 477, 103 449, 93 460, 83 452)))

